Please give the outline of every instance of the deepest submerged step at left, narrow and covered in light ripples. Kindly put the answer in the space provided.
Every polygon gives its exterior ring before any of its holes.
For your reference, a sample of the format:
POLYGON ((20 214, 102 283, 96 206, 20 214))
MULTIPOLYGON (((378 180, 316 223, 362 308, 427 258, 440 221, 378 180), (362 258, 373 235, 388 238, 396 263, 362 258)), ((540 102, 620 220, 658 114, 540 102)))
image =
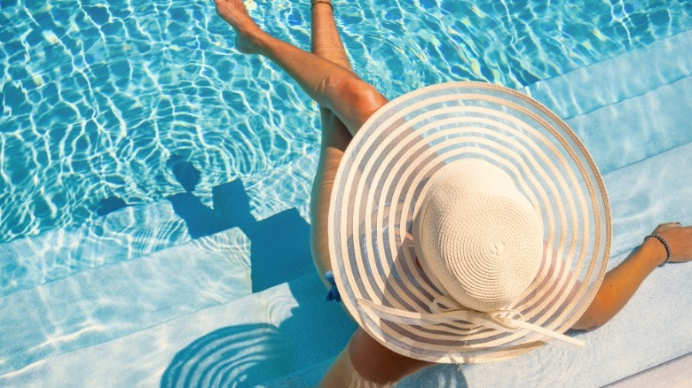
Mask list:
POLYGON ((0 244, 0 296, 190 241, 168 201, 127 206, 79 227, 0 244))

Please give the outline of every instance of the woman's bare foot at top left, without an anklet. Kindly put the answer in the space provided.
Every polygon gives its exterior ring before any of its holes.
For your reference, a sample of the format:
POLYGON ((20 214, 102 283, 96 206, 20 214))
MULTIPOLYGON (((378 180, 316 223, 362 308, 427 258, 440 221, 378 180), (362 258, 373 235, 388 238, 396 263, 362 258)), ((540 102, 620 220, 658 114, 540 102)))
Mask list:
POLYGON ((244 54, 260 53, 259 38, 264 32, 257 26, 255 20, 250 18, 242 0, 214 0, 214 3, 218 16, 231 25, 237 33, 235 37, 236 48, 244 54))

